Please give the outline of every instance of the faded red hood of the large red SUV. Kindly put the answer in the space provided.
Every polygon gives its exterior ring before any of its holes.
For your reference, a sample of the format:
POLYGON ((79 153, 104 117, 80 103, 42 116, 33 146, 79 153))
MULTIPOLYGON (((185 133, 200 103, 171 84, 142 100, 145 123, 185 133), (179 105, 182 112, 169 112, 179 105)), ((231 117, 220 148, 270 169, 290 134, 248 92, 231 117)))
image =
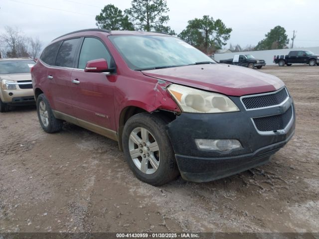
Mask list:
POLYGON ((228 96, 276 91, 285 84, 276 76, 227 64, 204 64, 142 71, 146 76, 228 96))

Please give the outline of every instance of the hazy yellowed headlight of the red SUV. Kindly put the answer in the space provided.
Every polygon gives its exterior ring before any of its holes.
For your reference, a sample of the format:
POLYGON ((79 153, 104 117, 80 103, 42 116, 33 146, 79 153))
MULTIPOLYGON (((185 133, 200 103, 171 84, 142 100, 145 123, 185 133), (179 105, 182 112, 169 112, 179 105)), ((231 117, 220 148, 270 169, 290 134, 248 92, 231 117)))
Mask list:
POLYGON ((171 84, 168 91, 183 112, 189 113, 224 113, 239 111, 237 106, 226 96, 171 84))

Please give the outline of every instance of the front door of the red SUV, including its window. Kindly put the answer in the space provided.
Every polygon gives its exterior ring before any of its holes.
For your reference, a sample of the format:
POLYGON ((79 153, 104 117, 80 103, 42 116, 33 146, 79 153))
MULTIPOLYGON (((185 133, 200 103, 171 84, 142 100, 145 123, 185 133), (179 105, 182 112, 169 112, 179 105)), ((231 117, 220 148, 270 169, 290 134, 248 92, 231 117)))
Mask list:
POLYGON ((100 58, 104 58, 109 67, 115 67, 105 44, 98 38, 85 37, 78 54, 78 69, 72 72, 72 80, 76 81, 72 83, 74 112, 79 123, 93 131, 96 130, 92 124, 115 129, 113 85, 116 74, 84 72, 88 61, 100 58))

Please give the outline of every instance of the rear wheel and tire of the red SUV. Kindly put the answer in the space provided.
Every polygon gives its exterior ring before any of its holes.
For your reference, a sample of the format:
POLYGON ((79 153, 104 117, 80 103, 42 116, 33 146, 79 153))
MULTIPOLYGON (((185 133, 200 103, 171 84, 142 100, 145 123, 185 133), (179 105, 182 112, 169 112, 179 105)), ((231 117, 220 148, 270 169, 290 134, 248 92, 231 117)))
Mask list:
POLYGON ((47 133, 61 131, 63 120, 56 119, 52 109, 44 94, 40 94, 36 99, 36 112, 43 130, 47 133))

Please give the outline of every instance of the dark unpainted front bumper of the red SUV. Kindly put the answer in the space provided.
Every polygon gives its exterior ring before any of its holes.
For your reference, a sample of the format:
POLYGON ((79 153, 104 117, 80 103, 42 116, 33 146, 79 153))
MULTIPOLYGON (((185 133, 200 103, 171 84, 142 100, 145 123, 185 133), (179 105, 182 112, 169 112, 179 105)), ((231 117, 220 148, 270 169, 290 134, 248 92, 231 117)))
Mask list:
POLYGON ((227 177, 267 163, 295 132, 295 114, 289 127, 280 132, 261 134, 252 118, 272 116, 292 107, 292 100, 284 106, 246 111, 238 97, 230 97, 240 112, 223 114, 182 113, 167 125, 182 178, 193 182, 207 182, 227 177), (200 150, 194 139, 237 139, 241 149, 228 152, 200 150))

